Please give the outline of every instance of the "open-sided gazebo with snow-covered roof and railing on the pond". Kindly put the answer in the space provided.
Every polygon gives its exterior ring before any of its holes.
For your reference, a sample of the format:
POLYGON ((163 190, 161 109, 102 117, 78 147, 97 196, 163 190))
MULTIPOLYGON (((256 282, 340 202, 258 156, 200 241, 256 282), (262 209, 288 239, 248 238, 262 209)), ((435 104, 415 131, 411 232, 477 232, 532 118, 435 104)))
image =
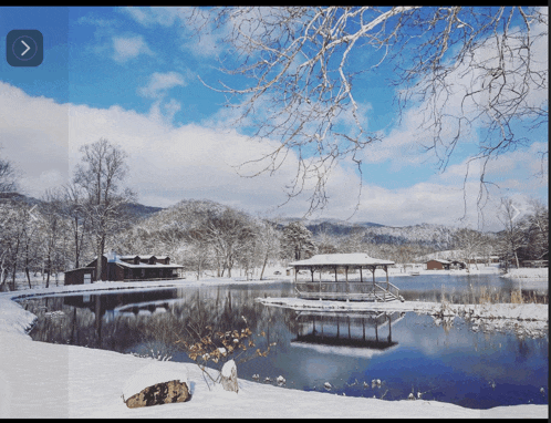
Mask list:
POLYGON ((355 301, 395 301, 403 298, 399 289, 388 281, 388 266, 394 261, 383 260, 357 254, 325 254, 316 255, 306 260, 292 261, 294 268, 295 291, 303 299, 355 300, 355 301), (375 270, 383 269, 386 282, 375 281, 375 270), (299 281, 300 270, 310 270, 310 281, 299 281), (364 281, 363 270, 372 272, 372 282, 364 281), (344 270, 344 280, 339 280, 339 270, 344 270), (360 270, 360 282, 349 280, 349 272, 360 270), (319 271, 319 280, 314 281, 314 271, 319 271), (334 281, 322 281, 322 271, 334 271, 334 281))

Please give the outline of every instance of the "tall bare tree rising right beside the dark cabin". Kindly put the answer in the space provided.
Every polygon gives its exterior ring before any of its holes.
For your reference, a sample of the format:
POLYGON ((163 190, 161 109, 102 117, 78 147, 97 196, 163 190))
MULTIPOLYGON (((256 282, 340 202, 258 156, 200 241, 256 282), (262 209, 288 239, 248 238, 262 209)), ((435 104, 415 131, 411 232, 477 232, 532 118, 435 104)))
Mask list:
POLYGON ((97 257, 96 280, 102 278, 102 257, 107 237, 124 223, 124 205, 135 200, 135 194, 119 184, 127 172, 127 154, 107 140, 86 144, 81 148, 82 164, 76 167, 74 184, 86 193, 83 212, 95 238, 97 257))

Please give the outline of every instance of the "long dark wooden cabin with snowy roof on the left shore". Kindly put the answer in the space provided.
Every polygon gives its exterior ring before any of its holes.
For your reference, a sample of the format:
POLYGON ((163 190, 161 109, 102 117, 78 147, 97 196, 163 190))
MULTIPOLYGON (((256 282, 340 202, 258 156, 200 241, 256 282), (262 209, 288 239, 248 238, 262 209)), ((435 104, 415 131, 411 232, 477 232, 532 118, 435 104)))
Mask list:
POLYGON ((102 276, 96 278, 97 259, 85 267, 65 271, 65 285, 92 283, 96 280, 136 281, 181 278, 184 266, 170 264, 168 256, 103 255, 102 276))

